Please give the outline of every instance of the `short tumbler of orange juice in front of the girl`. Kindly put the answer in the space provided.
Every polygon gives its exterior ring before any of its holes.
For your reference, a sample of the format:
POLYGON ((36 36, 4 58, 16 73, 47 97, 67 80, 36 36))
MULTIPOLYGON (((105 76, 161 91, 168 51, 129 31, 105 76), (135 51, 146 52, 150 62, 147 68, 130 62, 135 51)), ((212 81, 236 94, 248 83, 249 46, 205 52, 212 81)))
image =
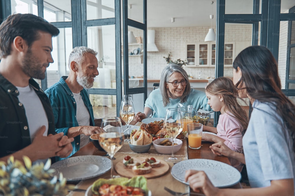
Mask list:
POLYGON ((189 148, 200 149, 202 141, 203 124, 201 123, 189 123, 188 127, 188 138, 189 148))

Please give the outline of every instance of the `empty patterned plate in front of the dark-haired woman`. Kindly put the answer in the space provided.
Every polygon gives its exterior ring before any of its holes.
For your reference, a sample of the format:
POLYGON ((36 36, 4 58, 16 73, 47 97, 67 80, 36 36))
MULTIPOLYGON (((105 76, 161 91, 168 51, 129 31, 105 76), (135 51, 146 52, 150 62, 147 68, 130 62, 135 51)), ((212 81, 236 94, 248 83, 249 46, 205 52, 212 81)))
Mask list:
POLYGON ((178 181, 184 181, 186 170, 204 171, 215 187, 229 187, 241 180, 241 173, 231 165, 209 159, 189 159, 176 163, 171 169, 171 175, 178 181))

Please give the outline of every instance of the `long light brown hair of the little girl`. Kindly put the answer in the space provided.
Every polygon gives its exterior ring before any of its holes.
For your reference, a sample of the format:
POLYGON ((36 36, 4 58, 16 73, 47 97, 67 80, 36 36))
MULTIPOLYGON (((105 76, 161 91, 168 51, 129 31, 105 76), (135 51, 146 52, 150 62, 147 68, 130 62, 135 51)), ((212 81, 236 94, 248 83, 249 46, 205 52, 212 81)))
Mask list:
POLYGON ((228 110, 233 115, 230 116, 236 118, 240 125, 242 125, 243 130, 241 130, 242 135, 244 135, 248 127, 248 116, 245 110, 237 102, 237 88, 234 83, 225 77, 219 77, 214 79, 206 87, 206 91, 212 95, 220 95, 223 97, 225 109, 228 110))

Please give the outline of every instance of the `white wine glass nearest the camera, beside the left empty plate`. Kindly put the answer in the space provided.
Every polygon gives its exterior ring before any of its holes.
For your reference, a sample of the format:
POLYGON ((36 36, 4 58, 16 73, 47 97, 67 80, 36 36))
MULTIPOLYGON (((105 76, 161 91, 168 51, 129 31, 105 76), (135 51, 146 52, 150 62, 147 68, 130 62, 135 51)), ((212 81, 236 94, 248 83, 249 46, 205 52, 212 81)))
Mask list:
POLYGON ((106 132, 99 134, 99 144, 111 159, 111 176, 108 178, 121 177, 113 175, 113 157, 122 148, 124 133, 122 132, 121 119, 118 117, 103 118, 101 128, 106 132))

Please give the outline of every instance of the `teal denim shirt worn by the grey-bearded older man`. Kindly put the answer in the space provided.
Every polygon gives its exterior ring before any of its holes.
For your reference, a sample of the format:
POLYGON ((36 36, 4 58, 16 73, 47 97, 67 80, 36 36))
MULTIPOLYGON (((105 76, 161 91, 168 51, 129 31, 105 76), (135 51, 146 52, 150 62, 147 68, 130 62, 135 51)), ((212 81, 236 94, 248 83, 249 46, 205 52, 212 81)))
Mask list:
MULTIPOLYGON (((71 127, 79 126, 77 118, 76 118, 76 110, 77 105, 74 99, 73 93, 68 87, 65 79, 68 76, 62 76, 59 82, 55 83, 53 86, 48 88, 45 93, 47 94, 49 101, 52 106, 53 114, 54 114, 54 122, 55 122, 55 132, 60 133, 63 132, 65 135, 68 135, 68 129, 71 127)), ((94 126, 94 116, 92 105, 90 103, 88 93, 83 88, 80 91, 80 95, 87 109, 89 110, 90 115, 90 126, 94 126)), ((68 156, 71 157, 74 153, 76 153, 80 149, 80 135, 74 138, 72 142, 73 151, 68 156)), ((67 158, 68 158, 67 157, 67 158)), ((57 160, 62 160, 65 158, 56 157, 57 160)))

